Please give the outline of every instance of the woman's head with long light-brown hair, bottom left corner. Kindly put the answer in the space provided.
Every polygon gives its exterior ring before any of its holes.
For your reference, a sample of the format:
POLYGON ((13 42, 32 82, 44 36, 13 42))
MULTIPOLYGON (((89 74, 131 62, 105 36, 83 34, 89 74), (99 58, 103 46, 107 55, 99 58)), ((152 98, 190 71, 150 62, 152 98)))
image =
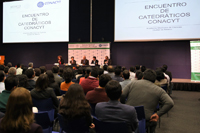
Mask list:
POLYGON ((34 122, 32 107, 30 92, 22 87, 16 88, 8 98, 1 128, 12 133, 29 132, 30 125, 34 122))

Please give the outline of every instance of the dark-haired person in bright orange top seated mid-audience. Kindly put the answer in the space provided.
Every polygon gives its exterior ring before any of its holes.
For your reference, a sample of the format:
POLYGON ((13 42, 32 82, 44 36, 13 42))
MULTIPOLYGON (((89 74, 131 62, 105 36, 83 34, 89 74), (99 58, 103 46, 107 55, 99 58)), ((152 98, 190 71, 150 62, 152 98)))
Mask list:
POLYGON ((72 78, 73 78, 73 70, 71 68, 66 68, 63 71, 63 77, 64 77, 64 82, 61 83, 60 85, 60 89, 62 91, 68 91, 69 87, 74 84, 74 82, 72 82, 72 78))

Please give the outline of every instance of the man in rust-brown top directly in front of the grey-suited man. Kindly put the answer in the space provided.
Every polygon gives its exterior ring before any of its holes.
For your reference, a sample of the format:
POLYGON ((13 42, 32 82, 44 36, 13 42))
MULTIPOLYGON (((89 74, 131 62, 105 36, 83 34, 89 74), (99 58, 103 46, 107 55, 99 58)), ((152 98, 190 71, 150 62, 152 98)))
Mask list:
POLYGON ((102 74, 99 78, 99 86, 94 90, 88 91, 86 94, 86 99, 89 103, 96 104, 99 102, 107 102, 109 98, 105 91, 106 84, 112 80, 111 77, 107 74, 102 74))

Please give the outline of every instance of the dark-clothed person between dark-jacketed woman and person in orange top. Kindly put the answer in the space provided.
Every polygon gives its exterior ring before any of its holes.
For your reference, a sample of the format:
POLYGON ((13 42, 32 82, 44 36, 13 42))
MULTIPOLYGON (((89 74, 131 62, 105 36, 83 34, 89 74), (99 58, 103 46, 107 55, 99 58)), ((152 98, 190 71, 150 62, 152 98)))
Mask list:
POLYGON ((60 87, 55 82, 53 72, 51 70, 47 70, 46 74, 47 74, 47 76, 49 78, 48 87, 53 88, 56 96, 60 96, 60 87))

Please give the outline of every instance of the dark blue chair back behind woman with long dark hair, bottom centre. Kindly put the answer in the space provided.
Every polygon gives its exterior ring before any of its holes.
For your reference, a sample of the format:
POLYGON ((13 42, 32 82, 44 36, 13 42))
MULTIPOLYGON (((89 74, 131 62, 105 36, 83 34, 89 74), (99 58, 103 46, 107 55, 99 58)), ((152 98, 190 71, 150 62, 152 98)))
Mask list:
POLYGON ((60 124, 60 132, 67 133, 88 133, 89 126, 87 126, 86 119, 74 119, 74 120, 66 120, 61 114, 58 114, 58 120, 60 124))

